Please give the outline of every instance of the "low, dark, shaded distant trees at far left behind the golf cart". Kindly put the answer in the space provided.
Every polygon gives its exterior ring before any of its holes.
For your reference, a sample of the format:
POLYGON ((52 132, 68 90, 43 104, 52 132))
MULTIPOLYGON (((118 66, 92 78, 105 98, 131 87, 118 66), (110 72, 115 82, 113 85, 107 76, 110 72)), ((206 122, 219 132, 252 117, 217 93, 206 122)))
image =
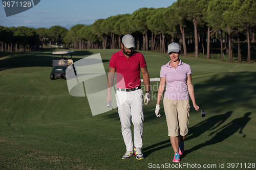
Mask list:
POLYGON ((60 26, 53 26, 50 29, 0 26, 0 51, 24 52, 27 47, 31 50, 46 43, 50 43, 51 47, 52 42, 60 47, 68 31, 60 26))

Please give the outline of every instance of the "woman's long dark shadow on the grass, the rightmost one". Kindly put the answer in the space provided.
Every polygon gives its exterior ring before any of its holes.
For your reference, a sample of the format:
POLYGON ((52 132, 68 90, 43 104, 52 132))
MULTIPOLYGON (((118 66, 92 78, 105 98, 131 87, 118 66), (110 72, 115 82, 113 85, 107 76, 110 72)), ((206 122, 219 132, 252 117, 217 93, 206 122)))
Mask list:
MULTIPOLYGON (((216 144, 219 142, 222 142, 223 140, 227 139, 228 137, 230 137, 231 135, 233 135, 234 133, 238 132, 240 134, 242 134, 242 130, 244 129, 244 127, 246 126, 246 124, 250 121, 250 117, 248 117, 251 114, 251 112, 247 112, 244 114, 243 117, 240 118, 236 118, 233 119, 230 123, 228 123, 227 125, 224 125, 223 127, 219 128, 218 130, 212 132, 209 134, 209 136, 213 135, 216 133, 216 135, 214 137, 212 137, 210 140, 203 142, 201 144, 196 145, 195 147, 189 149, 189 150, 185 150, 185 153, 183 156, 186 156, 187 154, 199 150, 207 145, 211 145, 211 144, 216 144)), ((246 135, 243 134, 243 137, 245 137, 246 135)))

